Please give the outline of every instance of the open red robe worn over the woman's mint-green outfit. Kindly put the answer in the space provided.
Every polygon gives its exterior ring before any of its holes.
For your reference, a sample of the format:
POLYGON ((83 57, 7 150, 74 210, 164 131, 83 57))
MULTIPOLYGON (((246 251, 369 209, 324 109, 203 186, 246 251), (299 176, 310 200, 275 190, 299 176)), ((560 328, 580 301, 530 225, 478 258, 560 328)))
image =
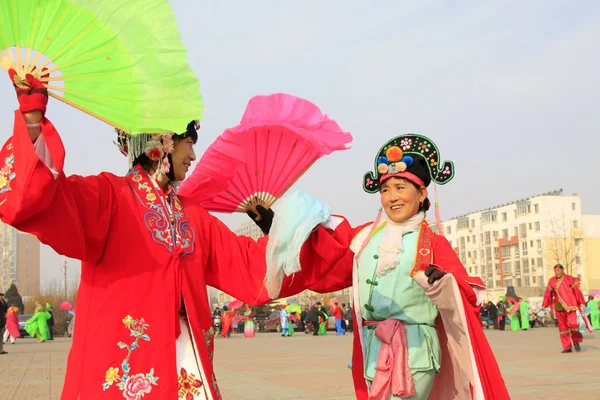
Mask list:
MULTIPOLYGON (((350 287, 353 283, 354 289, 358 289, 357 282, 353 282, 355 256, 372 224, 352 228, 345 219, 335 218, 339 224, 334 230, 320 226, 308 238, 300 254, 302 270, 284 278, 280 297, 291 296, 304 289, 328 293, 350 287)), ((426 283, 422 272, 430 263, 438 265, 448 273, 448 276, 443 278, 445 287, 442 292, 447 294, 453 291, 456 297, 451 299, 452 304, 458 308, 444 309, 444 304, 435 300, 439 298, 439 293, 434 293, 436 289, 431 290, 431 293, 425 289, 426 294, 440 309, 440 317, 442 317, 438 325, 443 350, 442 367, 436 377, 430 399, 464 399, 465 397, 461 396, 469 392, 472 393, 473 399, 510 399, 492 349, 481 327, 479 308, 483 300, 481 289, 485 289, 483 283, 479 278, 468 276, 448 241, 434 234, 426 222, 421 227, 418 246, 418 257, 411 276, 418 282, 420 280, 420 284, 423 281, 426 283), (446 322, 452 325, 448 329, 444 328, 446 322), (449 337, 457 332, 462 333, 463 340, 459 344, 449 340, 449 337), (449 353, 449 347, 453 351, 452 354, 449 353), (461 360, 466 360, 466 364, 472 364, 472 368, 465 369, 465 365, 460 365, 456 361, 457 355, 461 356, 461 360), (466 376, 470 376, 471 383, 465 381, 466 376), (453 389, 454 395, 458 397, 452 397, 453 389)), ((426 284, 424 285, 427 287, 426 284)), ((356 299, 355 293, 355 303, 356 299)), ((362 328, 358 325, 360 318, 357 318, 359 305, 354 304, 353 309, 355 318, 353 319, 352 375, 356 398, 367 400, 368 389, 364 378, 360 338, 362 328)))

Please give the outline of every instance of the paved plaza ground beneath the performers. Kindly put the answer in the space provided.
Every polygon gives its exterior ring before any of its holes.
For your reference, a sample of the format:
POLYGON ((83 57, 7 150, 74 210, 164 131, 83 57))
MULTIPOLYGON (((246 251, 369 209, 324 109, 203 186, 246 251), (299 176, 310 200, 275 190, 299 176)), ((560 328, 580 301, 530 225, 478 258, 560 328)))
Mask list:
MULTIPOLYGON (((581 353, 560 354, 555 328, 486 333, 512 399, 600 399, 600 334, 585 334, 581 353)), ((354 399, 347 368, 351 345, 351 336, 332 333, 219 339, 215 366, 221 393, 225 400, 354 399)), ((69 339, 6 345, 0 400, 58 399, 69 347, 69 339)))

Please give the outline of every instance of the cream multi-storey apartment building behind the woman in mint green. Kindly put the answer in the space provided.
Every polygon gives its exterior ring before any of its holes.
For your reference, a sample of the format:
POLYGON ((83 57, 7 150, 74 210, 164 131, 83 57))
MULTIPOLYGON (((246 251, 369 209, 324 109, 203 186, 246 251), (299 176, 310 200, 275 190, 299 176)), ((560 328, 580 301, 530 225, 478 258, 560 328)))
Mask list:
POLYGON ((514 286, 541 296, 553 267, 600 289, 600 215, 584 215, 577 194, 562 189, 454 217, 444 235, 469 274, 483 279, 490 300, 514 286))

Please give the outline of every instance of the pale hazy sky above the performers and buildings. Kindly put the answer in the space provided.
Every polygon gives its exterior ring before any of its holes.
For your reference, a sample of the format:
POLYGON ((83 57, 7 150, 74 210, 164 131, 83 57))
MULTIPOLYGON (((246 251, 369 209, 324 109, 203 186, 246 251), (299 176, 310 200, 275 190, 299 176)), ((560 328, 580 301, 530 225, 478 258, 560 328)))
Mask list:
MULTIPOLYGON (((296 186, 353 224, 379 204, 361 189, 375 152, 407 132, 455 163, 438 190, 443 218, 556 188, 600 213, 597 1, 171 3, 205 101, 198 153, 237 125, 252 96, 285 92, 353 134, 352 150, 320 160, 296 186)), ((0 82, 2 141, 11 91, 0 82)), ((110 127, 56 102, 48 117, 68 173, 126 172, 110 127)), ((232 228, 244 218, 222 217, 232 228)), ((42 257, 42 279, 58 278, 60 257, 48 248, 42 257)))

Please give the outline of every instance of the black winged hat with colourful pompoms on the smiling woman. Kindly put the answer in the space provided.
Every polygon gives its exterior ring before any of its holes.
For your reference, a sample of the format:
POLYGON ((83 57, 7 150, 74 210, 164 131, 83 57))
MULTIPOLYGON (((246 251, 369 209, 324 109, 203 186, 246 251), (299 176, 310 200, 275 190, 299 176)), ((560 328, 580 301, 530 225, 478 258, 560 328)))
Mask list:
POLYGON ((375 158, 375 171, 365 174, 363 189, 367 193, 378 193, 379 180, 383 175, 410 172, 418 158, 425 161, 432 182, 444 185, 454 177, 454 163, 441 162, 440 152, 431 139, 409 133, 393 138, 379 149, 375 158))

